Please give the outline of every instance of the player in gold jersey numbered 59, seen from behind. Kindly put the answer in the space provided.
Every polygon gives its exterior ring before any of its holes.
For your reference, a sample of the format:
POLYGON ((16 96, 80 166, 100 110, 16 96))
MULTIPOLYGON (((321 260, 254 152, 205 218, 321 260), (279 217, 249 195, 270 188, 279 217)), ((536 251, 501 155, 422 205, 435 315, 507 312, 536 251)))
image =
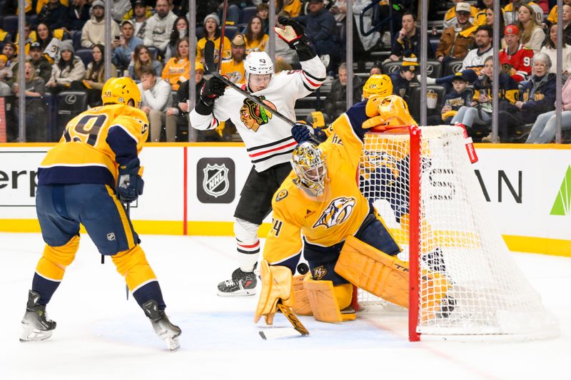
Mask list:
POLYGON ((32 280, 20 340, 48 339, 56 328, 46 304, 74 261, 81 223, 101 255, 111 256, 156 334, 169 349, 177 349, 181 329, 165 314, 161 287, 123 206, 143 193, 138 154, 148 136, 148 120, 139 109, 141 92, 129 78, 111 78, 101 97, 102 107, 66 125, 39 167, 36 212, 46 246, 32 280))

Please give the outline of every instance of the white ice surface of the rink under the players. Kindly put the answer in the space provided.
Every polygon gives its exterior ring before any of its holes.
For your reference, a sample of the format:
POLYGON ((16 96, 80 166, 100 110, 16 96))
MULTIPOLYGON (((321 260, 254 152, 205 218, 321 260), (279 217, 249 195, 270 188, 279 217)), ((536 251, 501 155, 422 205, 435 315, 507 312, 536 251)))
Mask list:
MULTIPOLYGON (((44 342, 20 343, 20 320, 39 234, 0 233, 0 379, 569 379, 571 260, 515 254, 560 320, 557 339, 520 343, 410 343, 399 309, 323 324, 300 317, 309 337, 263 341, 257 296, 218 297, 236 269, 231 237, 145 235, 141 247, 161 283, 167 314, 183 330, 168 352, 111 260, 86 235, 48 306, 58 323, 44 342)), ((288 327, 276 316, 276 327, 288 327)))

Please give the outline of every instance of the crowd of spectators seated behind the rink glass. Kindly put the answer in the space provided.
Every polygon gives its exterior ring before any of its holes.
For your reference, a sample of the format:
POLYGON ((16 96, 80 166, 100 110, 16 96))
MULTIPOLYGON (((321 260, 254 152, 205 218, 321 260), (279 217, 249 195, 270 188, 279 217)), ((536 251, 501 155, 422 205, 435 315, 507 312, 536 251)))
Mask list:
MULTIPOLYGON (((233 83, 244 83, 243 60, 251 51, 268 47, 268 0, 228 1, 222 56, 223 1, 197 1, 196 25, 189 25, 186 0, 110 0, 111 30, 105 29, 102 0, 26 1, 25 96, 26 141, 52 141, 69 118, 58 111, 62 93, 84 93, 84 106, 101 105, 105 80, 105 34, 111 34, 111 76, 128 76, 143 93, 150 141, 188 140, 188 86, 191 67, 195 88, 204 83, 204 47, 215 43, 214 61, 233 83), (196 39, 194 37, 196 36, 196 39), (196 46, 196 62, 188 61, 196 46), (49 115, 38 118, 37 115, 49 115), (53 116, 52 116, 53 115, 53 116), (28 121, 34 120, 33 123, 28 121), (62 125, 63 124, 63 125, 62 125)), ((563 1, 563 62, 557 67, 557 5, 554 0, 501 1, 500 73, 501 142, 549 143, 555 137, 557 70, 564 76, 563 130, 571 130, 571 0, 563 1)), ((409 102, 413 116, 423 103, 418 92, 421 35, 428 34, 430 70, 423 75, 438 94, 429 104, 429 125, 464 123, 470 134, 491 141, 494 0, 430 1, 429 24, 421 26, 418 1, 354 0, 353 78, 345 66, 345 0, 276 0, 278 16, 293 17, 305 27, 311 45, 328 69, 323 88, 298 101, 298 118, 320 111, 331 120, 345 111, 347 86, 359 101, 363 83, 372 73, 386 73, 396 95, 409 102), (363 11, 361 14, 360 12, 363 11), (392 21, 392 22, 391 22, 392 21), (335 78, 337 77, 337 78, 335 78), (302 102, 303 101, 303 102, 302 102), (302 104, 303 103, 303 104, 302 104), (301 105, 301 106, 300 106, 301 105)), ((19 2, 0 0, 0 96, 14 106, 17 117, 19 2)), ((276 36, 276 71, 299 68, 298 58, 276 36)), ((561 83, 563 84, 563 83, 561 83)), ((78 110, 83 111, 83 110, 78 110)), ((71 112, 73 114, 73 112, 71 112)), ((420 121, 420 120, 418 120, 420 121)), ((18 138, 10 123, 9 141, 18 138)), ((196 140, 236 138, 231 123, 216 131, 197 132, 196 140)))

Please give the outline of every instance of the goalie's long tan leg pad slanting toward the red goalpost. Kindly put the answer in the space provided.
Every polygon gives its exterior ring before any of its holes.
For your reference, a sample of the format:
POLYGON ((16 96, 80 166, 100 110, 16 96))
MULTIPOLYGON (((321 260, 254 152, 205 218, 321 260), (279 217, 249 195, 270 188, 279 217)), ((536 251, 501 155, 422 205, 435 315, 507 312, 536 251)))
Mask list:
POLYGON ((408 263, 350 236, 335 272, 351 283, 402 307, 408 307, 408 263))

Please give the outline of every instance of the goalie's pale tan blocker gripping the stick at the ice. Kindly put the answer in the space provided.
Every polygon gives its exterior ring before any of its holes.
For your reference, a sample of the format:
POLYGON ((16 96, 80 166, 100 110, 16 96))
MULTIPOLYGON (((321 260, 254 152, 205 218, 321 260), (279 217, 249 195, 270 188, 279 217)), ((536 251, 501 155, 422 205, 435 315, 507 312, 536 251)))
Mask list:
POLYGON ((273 324, 273 316, 276 315, 279 301, 286 307, 292 307, 294 304, 293 276, 288 267, 270 266, 267 260, 262 260, 260 264, 262 291, 258 299, 254 323, 264 316, 266 324, 273 324))

